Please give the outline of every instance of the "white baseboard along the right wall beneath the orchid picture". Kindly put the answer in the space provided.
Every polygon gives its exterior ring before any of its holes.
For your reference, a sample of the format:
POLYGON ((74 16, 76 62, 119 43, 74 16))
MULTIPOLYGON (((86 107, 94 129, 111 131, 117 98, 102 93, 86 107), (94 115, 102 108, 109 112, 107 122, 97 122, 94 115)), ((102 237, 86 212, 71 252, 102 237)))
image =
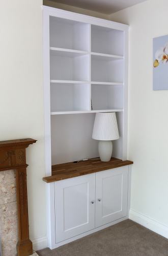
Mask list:
POLYGON ((168 239, 168 226, 130 209, 129 219, 168 239))

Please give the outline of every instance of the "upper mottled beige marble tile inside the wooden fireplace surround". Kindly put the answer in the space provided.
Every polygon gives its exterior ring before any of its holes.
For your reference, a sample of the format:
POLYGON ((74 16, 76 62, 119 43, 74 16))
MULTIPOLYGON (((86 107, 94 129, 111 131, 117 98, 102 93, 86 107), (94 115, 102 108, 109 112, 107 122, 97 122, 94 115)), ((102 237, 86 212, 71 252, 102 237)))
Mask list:
POLYGON ((16 201, 15 170, 0 172, 0 205, 16 201))

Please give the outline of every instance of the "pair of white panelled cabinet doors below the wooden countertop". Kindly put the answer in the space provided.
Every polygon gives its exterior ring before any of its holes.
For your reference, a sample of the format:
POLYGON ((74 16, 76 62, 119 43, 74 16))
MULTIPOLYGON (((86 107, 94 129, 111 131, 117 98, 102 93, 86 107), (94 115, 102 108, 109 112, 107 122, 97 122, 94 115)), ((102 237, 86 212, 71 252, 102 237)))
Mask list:
POLYGON ((56 243, 127 215, 128 166, 54 183, 56 243))

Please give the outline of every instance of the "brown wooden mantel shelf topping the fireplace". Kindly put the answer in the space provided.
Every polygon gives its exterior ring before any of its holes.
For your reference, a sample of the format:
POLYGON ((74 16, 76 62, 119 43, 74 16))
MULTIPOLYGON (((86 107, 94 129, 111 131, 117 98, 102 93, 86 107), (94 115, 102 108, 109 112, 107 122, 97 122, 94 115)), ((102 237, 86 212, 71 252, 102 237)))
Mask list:
POLYGON ((18 139, 18 140, 4 140, 0 141, 0 147, 15 147, 15 146, 23 146, 30 145, 35 143, 37 140, 34 139, 18 139))

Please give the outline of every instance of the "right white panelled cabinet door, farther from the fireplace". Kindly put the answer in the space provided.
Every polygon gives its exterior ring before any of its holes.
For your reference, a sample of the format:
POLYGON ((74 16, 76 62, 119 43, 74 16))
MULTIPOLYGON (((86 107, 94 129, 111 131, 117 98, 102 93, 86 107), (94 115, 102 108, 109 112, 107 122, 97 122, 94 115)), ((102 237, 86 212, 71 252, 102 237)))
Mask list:
POLYGON ((128 166, 96 173, 96 227, 127 215, 128 166))

